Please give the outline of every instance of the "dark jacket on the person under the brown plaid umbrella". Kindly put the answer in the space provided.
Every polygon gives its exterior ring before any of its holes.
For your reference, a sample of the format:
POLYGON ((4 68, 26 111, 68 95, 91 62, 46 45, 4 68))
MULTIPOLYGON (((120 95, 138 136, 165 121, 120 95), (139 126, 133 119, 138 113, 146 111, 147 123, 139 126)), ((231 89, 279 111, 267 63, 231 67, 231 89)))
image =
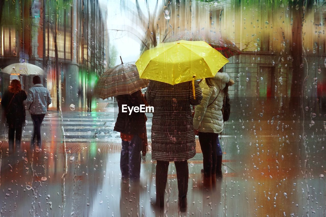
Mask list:
POLYGON ((141 94, 141 91, 137 91, 133 94, 116 96, 119 113, 117 121, 115 122, 114 131, 134 135, 139 135, 146 132, 145 113, 132 111, 131 115, 129 115, 128 109, 126 109, 127 112, 122 112, 122 105, 127 105, 129 107, 139 107, 141 104, 144 104, 141 98, 141 94))

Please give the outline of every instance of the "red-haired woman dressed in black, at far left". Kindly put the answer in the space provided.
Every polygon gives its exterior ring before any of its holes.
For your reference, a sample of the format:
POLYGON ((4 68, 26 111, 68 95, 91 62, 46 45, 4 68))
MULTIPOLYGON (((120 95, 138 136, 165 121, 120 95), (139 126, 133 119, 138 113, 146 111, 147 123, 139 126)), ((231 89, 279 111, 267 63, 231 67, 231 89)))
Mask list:
POLYGON ((1 106, 5 110, 8 124, 9 150, 13 151, 16 132, 16 148, 19 149, 22 138, 22 126, 25 124, 25 107, 23 101, 27 98, 19 80, 12 80, 8 91, 3 95, 1 106))

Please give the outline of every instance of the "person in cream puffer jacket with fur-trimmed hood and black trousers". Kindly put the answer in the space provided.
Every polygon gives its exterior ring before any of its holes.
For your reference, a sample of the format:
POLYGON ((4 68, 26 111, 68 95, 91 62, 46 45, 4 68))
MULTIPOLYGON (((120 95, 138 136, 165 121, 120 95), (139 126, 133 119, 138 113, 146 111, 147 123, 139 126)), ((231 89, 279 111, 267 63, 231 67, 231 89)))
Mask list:
MULTIPOLYGON (((222 176, 222 151, 219 146, 218 134, 223 131, 223 96, 226 86, 233 85, 234 81, 225 72, 217 72, 214 78, 204 79, 199 86, 202 89, 203 99, 195 108, 194 129, 198 130, 199 142, 203 153, 204 185, 215 182, 215 175, 222 176), (220 156, 217 157, 216 146, 220 156), (218 158, 218 159, 217 159, 218 158), (216 164, 219 168, 216 168, 216 164)), ((227 88, 226 88, 227 89, 227 88)))

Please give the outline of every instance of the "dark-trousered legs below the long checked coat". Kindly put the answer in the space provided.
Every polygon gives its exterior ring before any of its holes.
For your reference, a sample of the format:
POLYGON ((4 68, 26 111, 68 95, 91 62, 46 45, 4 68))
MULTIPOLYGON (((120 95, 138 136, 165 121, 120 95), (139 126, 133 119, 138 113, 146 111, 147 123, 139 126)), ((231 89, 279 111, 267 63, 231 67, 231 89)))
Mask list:
MULTIPOLYGON (((156 164, 156 203, 164 206, 165 188, 168 179, 168 161, 157 161, 156 164)), ((179 199, 185 198, 188 191, 188 162, 174 161, 175 169, 177 171, 179 199)))

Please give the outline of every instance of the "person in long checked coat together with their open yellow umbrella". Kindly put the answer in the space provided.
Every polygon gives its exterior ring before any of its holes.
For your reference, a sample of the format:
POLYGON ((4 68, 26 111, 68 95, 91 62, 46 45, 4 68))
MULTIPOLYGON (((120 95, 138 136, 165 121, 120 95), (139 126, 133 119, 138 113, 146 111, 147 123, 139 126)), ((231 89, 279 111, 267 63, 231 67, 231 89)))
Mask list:
POLYGON ((198 105, 202 93, 194 79, 214 77, 228 60, 204 41, 163 43, 145 51, 136 62, 140 78, 149 79, 145 94, 154 107, 152 159, 156 160, 156 205, 164 207, 168 166, 174 161, 180 211, 186 211, 187 160, 196 154, 190 105, 198 105))

